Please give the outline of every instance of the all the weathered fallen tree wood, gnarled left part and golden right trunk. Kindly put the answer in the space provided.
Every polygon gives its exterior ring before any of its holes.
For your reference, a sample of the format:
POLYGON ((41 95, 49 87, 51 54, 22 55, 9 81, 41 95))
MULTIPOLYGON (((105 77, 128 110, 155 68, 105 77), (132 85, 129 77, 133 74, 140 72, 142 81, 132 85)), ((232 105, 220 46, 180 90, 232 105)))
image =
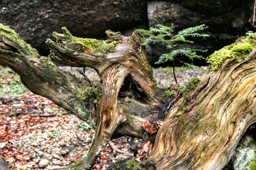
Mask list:
MULTIPOLYGON (((143 138, 142 122, 163 116, 166 89, 153 78, 138 33, 123 37, 106 31, 108 40, 53 33, 48 57, 0 26, 0 62, 8 65, 35 94, 86 121, 96 130, 90 150, 67 169, 91 169, 108 141, 128 135, 143 138), (51 62, 94 68, 102 84, 76 78, 51 62)), ((230 59, 209 72, 165 117, 148 161, 159 170, 221 169, 229 161, 247 127, 256 121, 255 50, 241 62, 230 59), (194 91, 192 91, 194 90, 194 91)), ((167 103, 169 105, 169 103, 167 103)))

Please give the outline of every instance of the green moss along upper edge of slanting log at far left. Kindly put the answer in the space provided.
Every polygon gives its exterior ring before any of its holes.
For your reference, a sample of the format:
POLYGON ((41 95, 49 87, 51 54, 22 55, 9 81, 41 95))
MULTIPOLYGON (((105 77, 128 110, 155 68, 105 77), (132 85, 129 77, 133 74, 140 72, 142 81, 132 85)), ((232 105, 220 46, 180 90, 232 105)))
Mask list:
POLYGON ((13 40, 14 44, 17 46, 18 53, 23 52, 26 55, 32 55, 39 58, 38 51, 35 48, 32 48, 29 44, 23 41, 20 36, 9 26, 4 26, 0 24, 0 37, 6 37, 13 40))

